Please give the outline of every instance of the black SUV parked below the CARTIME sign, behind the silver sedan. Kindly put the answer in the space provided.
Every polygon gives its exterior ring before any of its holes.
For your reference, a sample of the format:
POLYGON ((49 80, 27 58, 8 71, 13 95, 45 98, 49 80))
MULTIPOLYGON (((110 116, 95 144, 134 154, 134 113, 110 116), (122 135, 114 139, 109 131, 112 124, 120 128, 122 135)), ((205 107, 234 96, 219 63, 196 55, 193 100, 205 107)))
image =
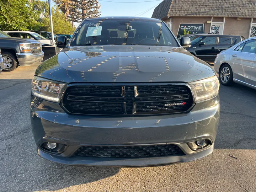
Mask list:
POLYGON ((191 47, 187 50, 206 62, 214 62, 218 53, 243 40, 241 36, 219 34, 193 34, 188 37, 191 47))

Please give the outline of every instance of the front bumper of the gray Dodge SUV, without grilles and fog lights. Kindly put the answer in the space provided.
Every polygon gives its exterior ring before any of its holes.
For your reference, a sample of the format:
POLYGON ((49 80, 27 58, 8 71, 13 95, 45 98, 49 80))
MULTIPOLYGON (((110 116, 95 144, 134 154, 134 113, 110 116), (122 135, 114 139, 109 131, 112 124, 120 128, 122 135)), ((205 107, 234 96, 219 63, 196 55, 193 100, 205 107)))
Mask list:
POLYGON ((157 166, 188 162, 212 153, 219 123, 219 96, 198 102, 189 113, 148 117, 98 117, 67 114, 58 103, 32 96, 31 124, 38 154, 50 161, 88 166, 157 166), (187 143, 208 139, 211 145, 193 151, 187 143), (41 147, 46 142, 68 145, 60 154, 41 147), (185 155, 151 158, 73 156, 83 145, 175 144, 185 155))

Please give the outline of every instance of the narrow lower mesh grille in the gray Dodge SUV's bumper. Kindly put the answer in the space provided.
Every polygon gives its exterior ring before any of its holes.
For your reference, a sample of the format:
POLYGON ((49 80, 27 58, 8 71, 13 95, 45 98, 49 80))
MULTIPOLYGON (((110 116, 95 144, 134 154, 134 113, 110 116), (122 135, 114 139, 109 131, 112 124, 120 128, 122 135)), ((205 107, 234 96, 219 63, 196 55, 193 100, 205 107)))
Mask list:
POLYGON ((154 156, 185 155, 173 144, 138 146, 81 146, 75 156, 107 158, 144 158, 154 156))

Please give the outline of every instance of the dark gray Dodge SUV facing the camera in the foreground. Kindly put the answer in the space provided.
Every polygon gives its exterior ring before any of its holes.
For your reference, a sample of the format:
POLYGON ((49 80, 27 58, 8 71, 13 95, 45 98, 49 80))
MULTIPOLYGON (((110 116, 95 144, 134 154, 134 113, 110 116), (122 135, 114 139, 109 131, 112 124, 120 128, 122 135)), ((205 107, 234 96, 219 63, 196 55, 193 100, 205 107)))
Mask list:
POLYGON ((219 81, 158 19, 81 22, 32 80, 38 154, 66 165, 156 166, 213 152, 219 81))

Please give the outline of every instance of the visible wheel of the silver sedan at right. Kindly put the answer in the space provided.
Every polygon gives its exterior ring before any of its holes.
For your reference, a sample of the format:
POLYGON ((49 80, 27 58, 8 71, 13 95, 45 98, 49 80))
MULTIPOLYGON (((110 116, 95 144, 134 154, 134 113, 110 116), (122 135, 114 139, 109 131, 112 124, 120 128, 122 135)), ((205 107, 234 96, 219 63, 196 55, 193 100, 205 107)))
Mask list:
POLYGON ((225 64, 220 68, 219 81, 222 85, 230 86, 234 84, 233 71, 230 65, 225 64))

